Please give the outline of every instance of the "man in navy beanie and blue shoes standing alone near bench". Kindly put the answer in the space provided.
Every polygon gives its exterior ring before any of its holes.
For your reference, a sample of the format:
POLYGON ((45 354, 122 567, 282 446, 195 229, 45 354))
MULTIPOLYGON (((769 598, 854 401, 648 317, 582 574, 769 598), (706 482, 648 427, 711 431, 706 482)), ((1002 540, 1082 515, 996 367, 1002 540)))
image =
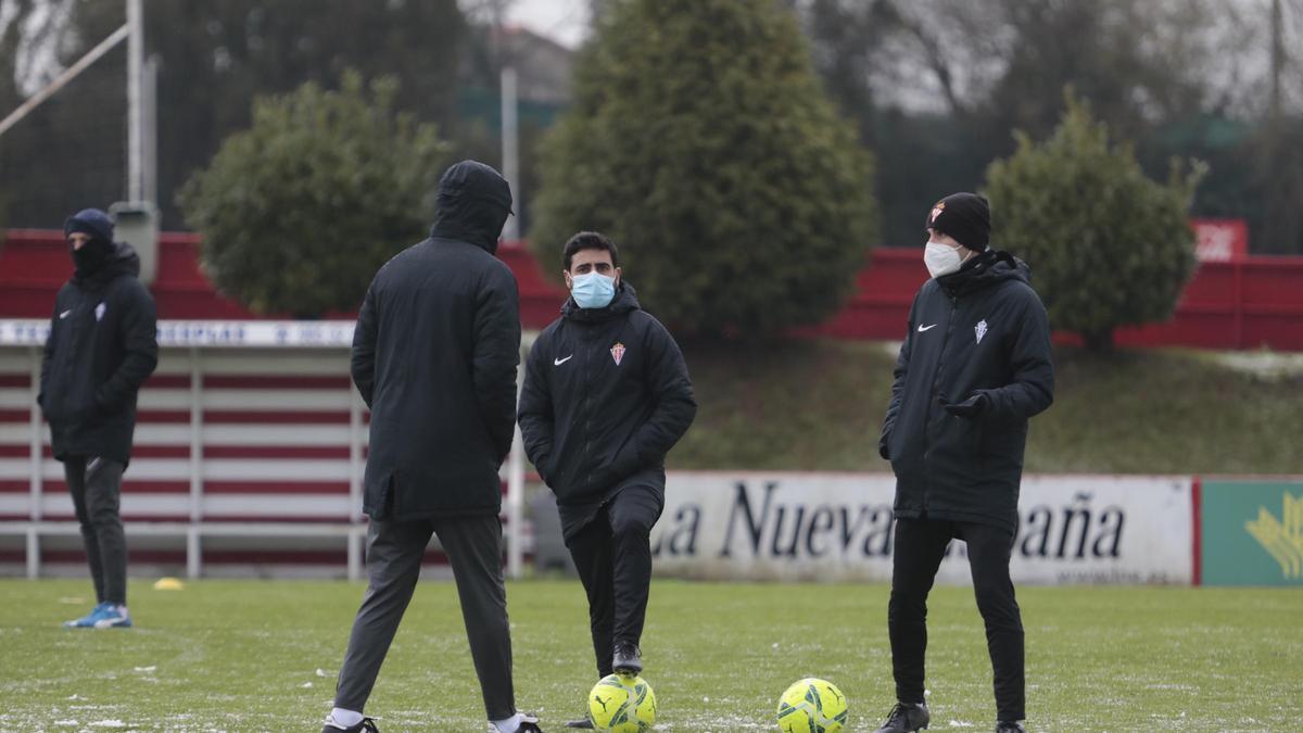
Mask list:
POLYGON ((55 458, 81 523, 95 608, 69 627, 132 625, 126 610, 126 537, 119 511, 132 459, 136 395, 158 365, 154 297, 137 279, 141 258, 113 241, 99 209, 68 218, 73 277, 55 297, 40 363, 40 403, 55 458))

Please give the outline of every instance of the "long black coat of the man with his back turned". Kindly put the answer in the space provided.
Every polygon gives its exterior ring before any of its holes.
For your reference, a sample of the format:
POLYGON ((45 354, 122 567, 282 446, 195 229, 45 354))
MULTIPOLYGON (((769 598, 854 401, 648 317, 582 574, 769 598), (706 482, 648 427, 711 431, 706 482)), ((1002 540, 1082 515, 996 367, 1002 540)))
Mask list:
POLYGON ((489 252, 502 218, 477 244, 439 236, 451 230, 435 224, 366 291, 352 370, 371 408, 364 510, 373 519, 502 509, 520 364, 516 278, 489 252))

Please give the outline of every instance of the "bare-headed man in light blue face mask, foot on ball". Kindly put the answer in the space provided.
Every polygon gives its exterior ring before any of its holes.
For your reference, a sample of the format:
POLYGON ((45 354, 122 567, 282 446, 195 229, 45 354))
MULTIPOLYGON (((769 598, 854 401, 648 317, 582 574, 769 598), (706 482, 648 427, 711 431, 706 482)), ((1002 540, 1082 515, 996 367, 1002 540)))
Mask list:
POLYGON ((618 257, 595 232, 566 243, 571 297, 529 352, 519 411, 525 453, 556 494, 588 592, 599 677, 642 669, 665 456, 697 413, 679 346, 638 307, 618 257))

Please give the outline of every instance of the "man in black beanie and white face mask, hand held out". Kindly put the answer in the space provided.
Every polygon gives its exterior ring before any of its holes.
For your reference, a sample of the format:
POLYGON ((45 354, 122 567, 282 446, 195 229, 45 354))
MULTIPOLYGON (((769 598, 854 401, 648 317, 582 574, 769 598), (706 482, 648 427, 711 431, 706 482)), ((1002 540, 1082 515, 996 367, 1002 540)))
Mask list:
POLYGON ((992 250, 972 193, 928 211, 925 282, 909 309, 878 453, 896 475, 887 626, 896 706, 878 733, 926 728, 928 592, 946 548, 968 548, 986 626, 997 733, 1022 733, 1023 623, 1009 575, 1027 423, 1054 399, 1050 329, 1025 262, 992 250))

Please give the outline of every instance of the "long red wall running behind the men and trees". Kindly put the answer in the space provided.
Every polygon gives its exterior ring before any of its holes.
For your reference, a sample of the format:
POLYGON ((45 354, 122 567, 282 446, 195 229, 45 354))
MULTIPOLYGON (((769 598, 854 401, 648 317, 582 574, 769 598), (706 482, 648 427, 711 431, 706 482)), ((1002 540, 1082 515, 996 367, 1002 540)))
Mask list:
MULTIPOLYGON (((173 320, 253 320, 219 295, 198 267, 199 239, 164 232, 159 243, 158 280, 151 286, 159 317, 173 320)), ((1123 346, 1192 346, 1303 351, 1303 257, 1237 257, 1204 261, 1186 288, 1175 316, 1165 323, 1122 329, 1123 346)), ((499 257, 520 284, 520 314, 526 329, 556 317, 564 293, 520 243, 499 257)), ((57 231, 12 230, 0 249, 0 318, 48 318, 55 292, 72 262, 57 231)), ((559 269, 559 265, 555 266, 559 269)), ((928 274, 915 249, 878 248, 860 271, 857 291, 826 323, 803 334, 846 339, 899 339, 909 304, 928 274)), ((636 278, 633 278, 636 282, 636 278)), ((328 314, 348 317, 348 313, 328 314)), ((284 318, 285 314, 267 314, 284 318)), ((1059 340, 1072 342, 1071 334, 1059 340)))

